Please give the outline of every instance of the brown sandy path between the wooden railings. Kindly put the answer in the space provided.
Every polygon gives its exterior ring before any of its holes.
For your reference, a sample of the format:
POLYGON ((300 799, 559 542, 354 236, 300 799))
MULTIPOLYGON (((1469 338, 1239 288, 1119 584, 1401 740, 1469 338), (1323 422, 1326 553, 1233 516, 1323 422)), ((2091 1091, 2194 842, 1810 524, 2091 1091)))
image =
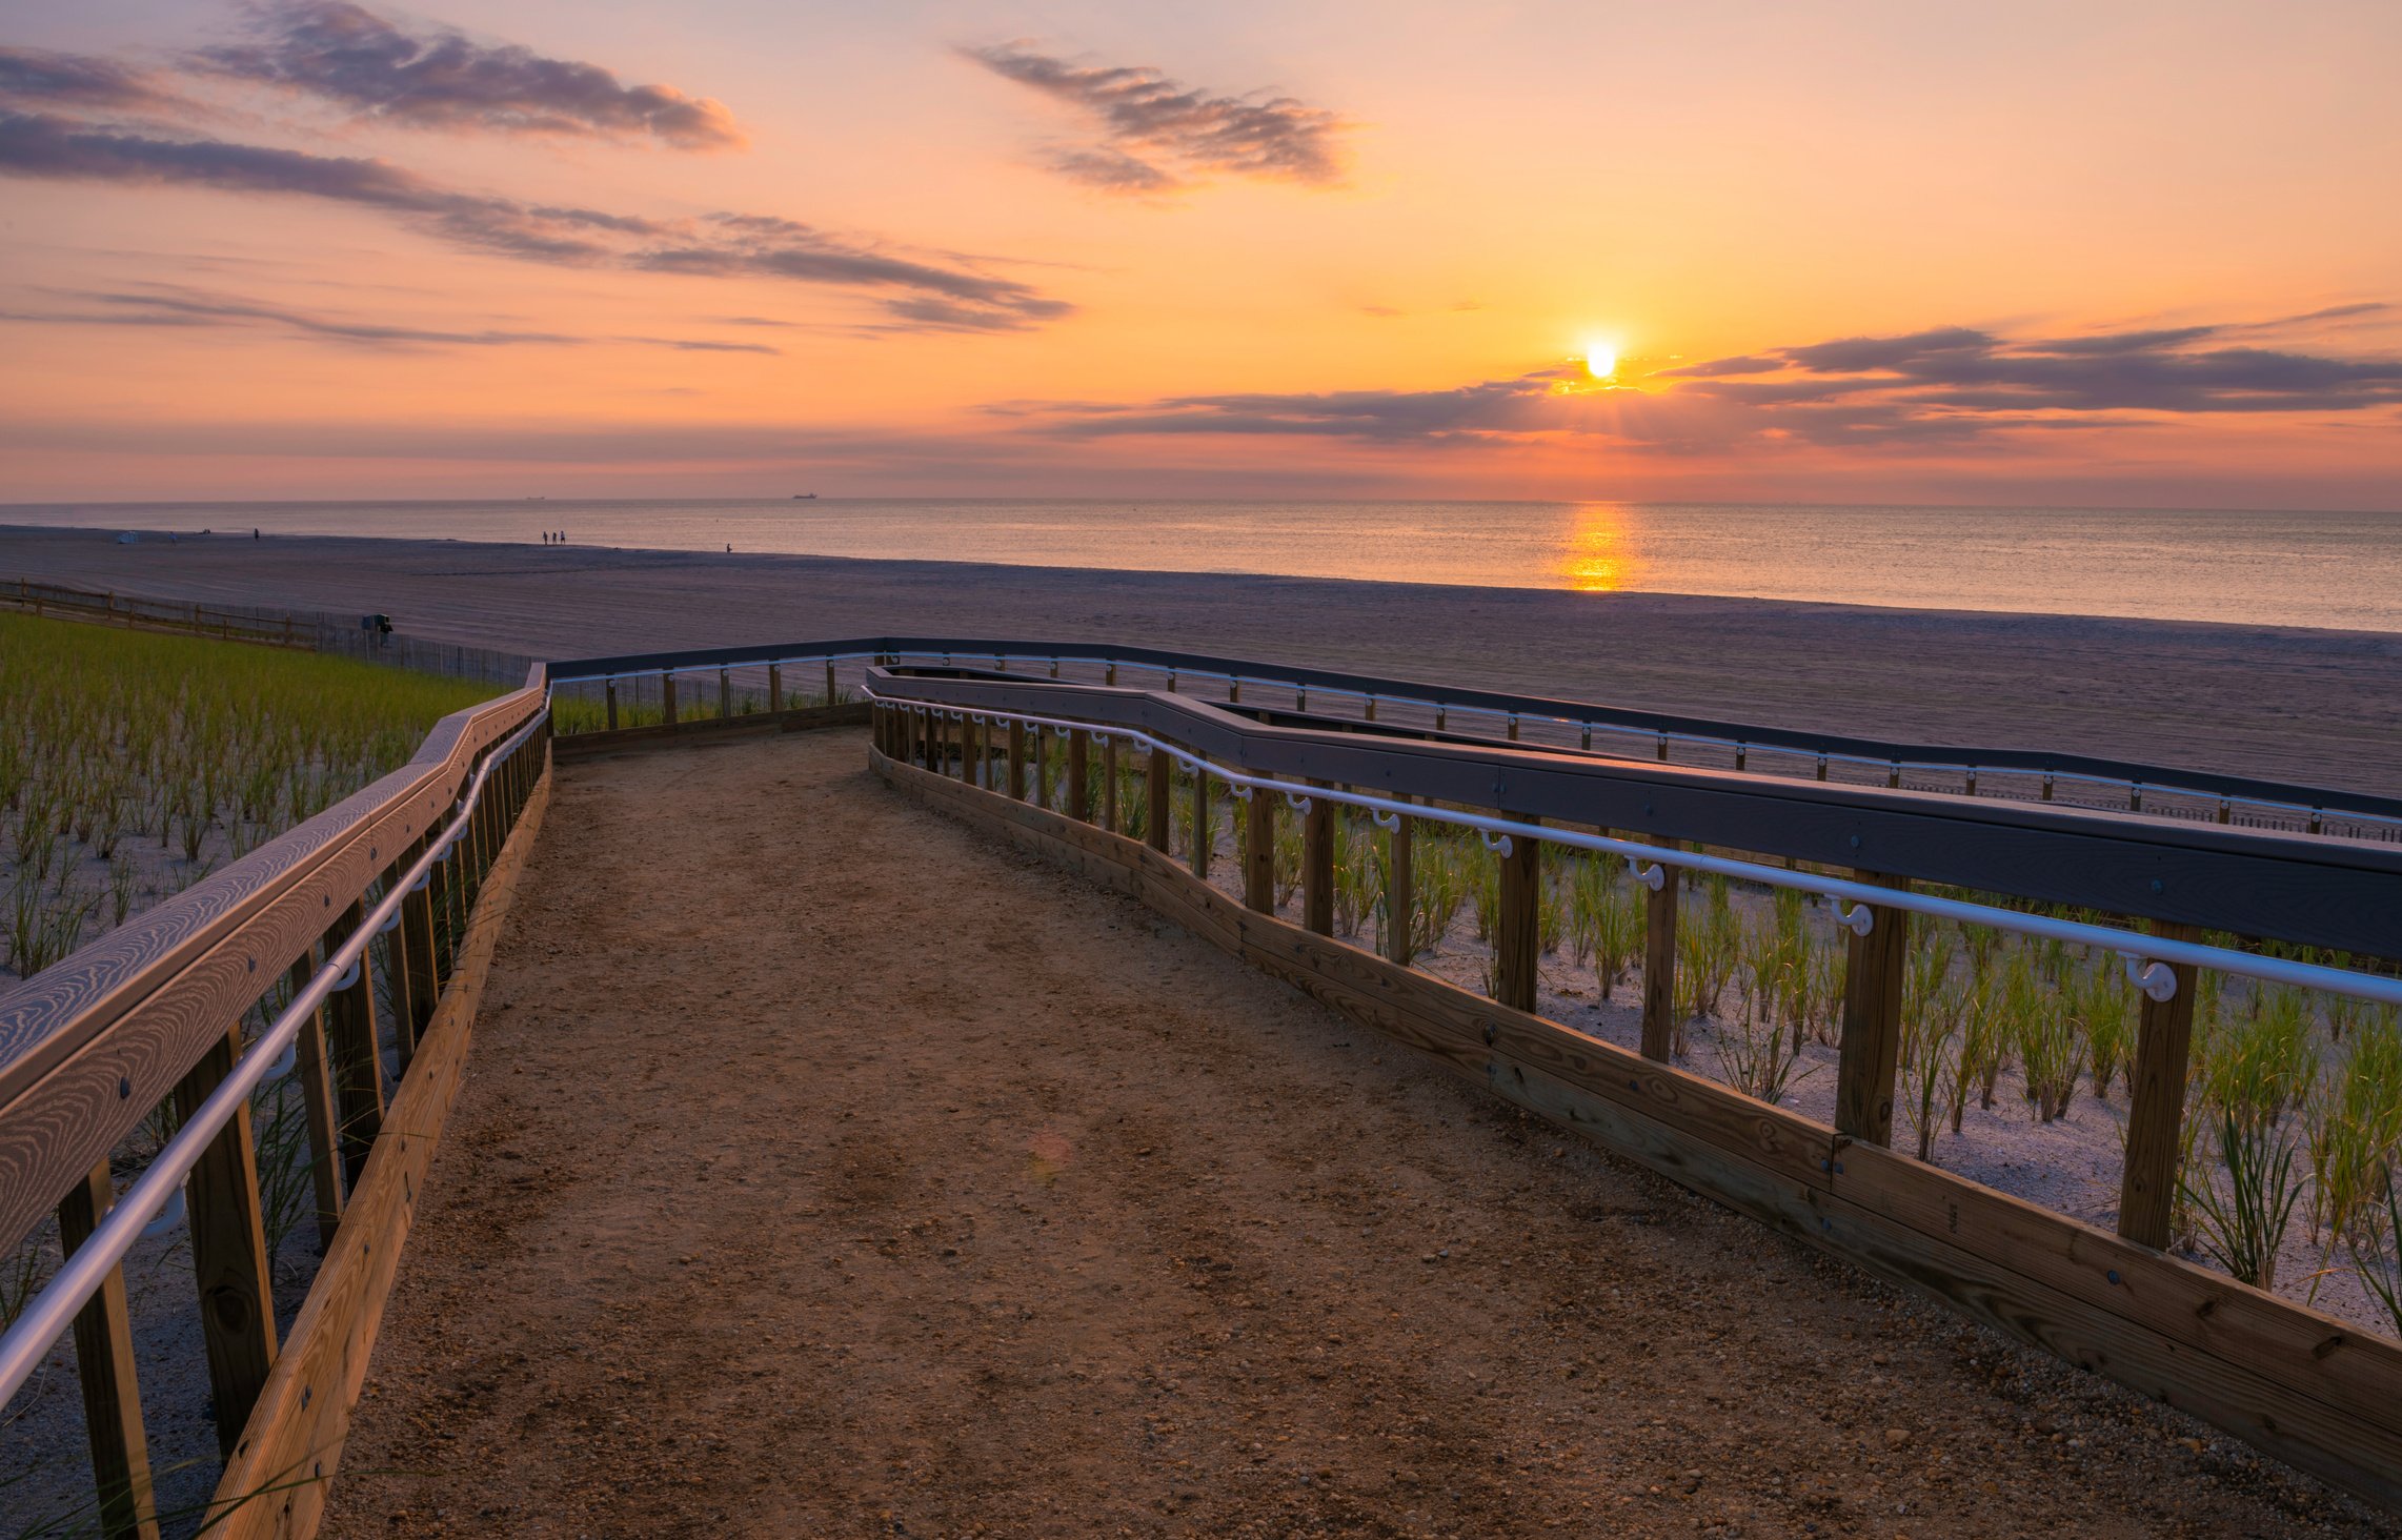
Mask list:
POLYGON ((2368 1530, 2198 1432, 824 733, 560 774, 327 1533, 2368 1530))

